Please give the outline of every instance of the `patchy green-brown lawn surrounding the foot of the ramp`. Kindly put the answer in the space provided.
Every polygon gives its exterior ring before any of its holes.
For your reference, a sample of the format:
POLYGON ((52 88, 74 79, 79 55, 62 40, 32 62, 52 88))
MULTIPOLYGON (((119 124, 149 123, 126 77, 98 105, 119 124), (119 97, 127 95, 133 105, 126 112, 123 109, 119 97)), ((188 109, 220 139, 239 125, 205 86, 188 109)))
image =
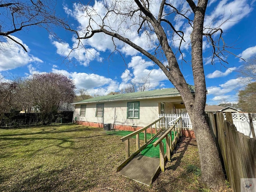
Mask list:
MULTIPOLYGON (((102 128, 68 124, 0 129, 0 189, 4 192, 48 191, 200 191, 196 141, 184 139, 151 187, 116 172, 125 159, 122 136, 102 128)), ((135 139, 130 140, 135 151, 135 139)), ((201 190, 202 191, 202 190, 201 190)))

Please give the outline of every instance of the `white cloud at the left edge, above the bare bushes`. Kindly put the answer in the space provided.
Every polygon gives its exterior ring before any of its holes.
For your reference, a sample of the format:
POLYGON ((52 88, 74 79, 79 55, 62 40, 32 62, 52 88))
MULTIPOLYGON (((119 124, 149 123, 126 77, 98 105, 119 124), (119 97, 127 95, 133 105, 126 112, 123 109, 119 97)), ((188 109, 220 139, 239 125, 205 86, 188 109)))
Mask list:
POLYGON ((0 71, 26 66, 27 64, 32 62, 43 62, 39 58, 29 54, 30 49, 20 39, 14 36, 11 37, 14 38, 16 41, 20 42, 21 44, 23 44, 28 52, 25 52, 21 46, 14 43, 12 40, 8 38, 6 38, 6 42, 0 42, 0 71))

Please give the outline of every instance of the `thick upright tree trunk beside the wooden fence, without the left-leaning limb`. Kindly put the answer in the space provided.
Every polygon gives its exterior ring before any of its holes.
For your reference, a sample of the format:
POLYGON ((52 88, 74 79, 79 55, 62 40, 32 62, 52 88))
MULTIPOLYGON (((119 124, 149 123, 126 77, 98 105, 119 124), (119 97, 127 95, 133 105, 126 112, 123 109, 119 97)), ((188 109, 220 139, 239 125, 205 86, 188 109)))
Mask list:
MULTIPOLYGON (((204 77, 204 65, 202 56, 204 14, 206 11, 207 0, 199 0, 198 5, 193 7, 194 25, 190 35, 192 70, 195 84, 194 102, 184 102, 190 115, 191 122, 195 131, 196 141, 201 162, 202 176, 201 181, 213 190, 219 190, 224 186, 224 172, 220 157, 218 156, 217 146, 210 133, 209 125, 204 116, 206 104, 206 82, 204 77)), ((187 96, 183 95, 185 98, 187 96)))

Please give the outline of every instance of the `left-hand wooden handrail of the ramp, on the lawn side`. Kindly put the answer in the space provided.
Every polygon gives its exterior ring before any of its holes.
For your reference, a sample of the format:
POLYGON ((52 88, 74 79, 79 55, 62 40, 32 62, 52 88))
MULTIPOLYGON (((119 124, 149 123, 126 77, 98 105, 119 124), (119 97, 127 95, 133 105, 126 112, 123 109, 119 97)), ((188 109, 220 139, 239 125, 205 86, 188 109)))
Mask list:
POLYGON ((158 120, 149 124, 148 126, 141 128, 140 130, 134 131, 131 134, 128 134, 128 135, 122 137, 121 138, 122 142, 125 141, 125 158, 126 158, 126 160, 124 162, 122 162, 122 164, 120 166, 118 166, 117 171, 120 171, 130 160, 132 160, 132 158, 134 158, 137 154, 139 154, 150 142, 152 142, 152 140, 154 140, 154 138, 156 138, 156 136, 158 136, 160 131, 165 128, 166 128, 166 118, 161 117, 158 120), (157 126, 157 124, 158 124, 158 126, 157 126), (150 128, 151 138, 150 138, 150 140, 147 141, 146 133, 147 133, 148 128, 150 128), (153 129, 155 130, 154 136, 152 135, 153 129), (144 131, 144 145, 142 145, 140 147, 139 134, 143 131, 144 131), (133 136, 136 136, 136 152, 134 152, 130 156, 130 138, 132 138, 133 136))

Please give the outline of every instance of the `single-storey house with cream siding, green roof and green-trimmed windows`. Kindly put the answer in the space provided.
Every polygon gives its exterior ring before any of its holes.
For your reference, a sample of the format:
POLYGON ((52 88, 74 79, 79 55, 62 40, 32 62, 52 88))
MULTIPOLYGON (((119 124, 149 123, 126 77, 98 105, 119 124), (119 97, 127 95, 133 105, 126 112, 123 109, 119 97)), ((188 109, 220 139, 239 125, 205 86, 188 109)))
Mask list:
MULTIPOLYGON (((194 93, 194 86, 190 86, 194 93)), ((174 114, 185 108, 176 88, 90 98, 75 105, 74 120, 78 124, 111 129, 137 130, 159 118, 159 114, 174 114)))

